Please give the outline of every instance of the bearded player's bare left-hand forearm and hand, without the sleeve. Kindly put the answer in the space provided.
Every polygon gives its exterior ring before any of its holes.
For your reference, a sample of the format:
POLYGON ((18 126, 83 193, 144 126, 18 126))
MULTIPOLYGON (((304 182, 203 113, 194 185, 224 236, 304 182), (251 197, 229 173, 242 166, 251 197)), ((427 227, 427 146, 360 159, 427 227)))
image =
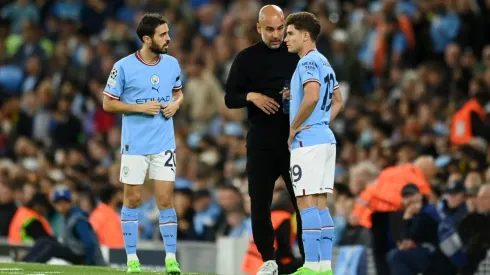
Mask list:
POLYGON ((147 115, 156 115, 160 112, 161 105, 156 101, 149 101, 143 104, 129 104, 104 94, 102 108, 109 113, 142 113, 147 115))

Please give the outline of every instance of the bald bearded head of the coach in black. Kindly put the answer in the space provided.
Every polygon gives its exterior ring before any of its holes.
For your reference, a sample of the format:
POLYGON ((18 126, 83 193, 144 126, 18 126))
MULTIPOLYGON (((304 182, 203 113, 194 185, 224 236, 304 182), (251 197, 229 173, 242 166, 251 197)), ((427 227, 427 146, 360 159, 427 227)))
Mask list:
POLYGON ((281 46, 284 38, 284 13, 276 5, 266 5, 260 9, 257 31, 262 41, 271 49, 281 46))

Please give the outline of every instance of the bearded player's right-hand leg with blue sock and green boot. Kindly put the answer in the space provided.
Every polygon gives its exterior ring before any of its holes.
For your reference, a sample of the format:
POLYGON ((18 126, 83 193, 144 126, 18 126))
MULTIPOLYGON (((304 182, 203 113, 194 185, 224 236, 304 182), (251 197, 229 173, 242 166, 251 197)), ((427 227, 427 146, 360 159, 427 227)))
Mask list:
POLYGON ((180 275, 177 251, 177 213, 173 205, 174 182, 154 180, 155 197, 160 210, 159 227, 165 243, 165 272, 180 275))

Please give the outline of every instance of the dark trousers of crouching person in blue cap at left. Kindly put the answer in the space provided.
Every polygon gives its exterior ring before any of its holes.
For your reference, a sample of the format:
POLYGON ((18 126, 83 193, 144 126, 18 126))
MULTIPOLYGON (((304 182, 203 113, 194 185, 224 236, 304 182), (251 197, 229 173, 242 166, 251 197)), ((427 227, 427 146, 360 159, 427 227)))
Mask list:
POLYGON ((82 264, 85 261, 84 256, 74 254, 69 248, 63 246, 53 238, 42 238, 36 241, 22 261, 46 263, 51 258, 63 259, 72 264, 82 264))

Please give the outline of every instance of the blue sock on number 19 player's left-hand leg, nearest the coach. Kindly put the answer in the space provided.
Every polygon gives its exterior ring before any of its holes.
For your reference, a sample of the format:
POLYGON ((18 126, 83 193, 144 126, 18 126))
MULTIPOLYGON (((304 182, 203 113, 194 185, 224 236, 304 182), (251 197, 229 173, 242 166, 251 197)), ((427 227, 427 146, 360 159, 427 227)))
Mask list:
POLYGON ((305 248, 305 266, 313 269, 318 265, 318 252, 320 249, 321 221, 317 207, 301 211, 303 222, 303 245, 305 248))

